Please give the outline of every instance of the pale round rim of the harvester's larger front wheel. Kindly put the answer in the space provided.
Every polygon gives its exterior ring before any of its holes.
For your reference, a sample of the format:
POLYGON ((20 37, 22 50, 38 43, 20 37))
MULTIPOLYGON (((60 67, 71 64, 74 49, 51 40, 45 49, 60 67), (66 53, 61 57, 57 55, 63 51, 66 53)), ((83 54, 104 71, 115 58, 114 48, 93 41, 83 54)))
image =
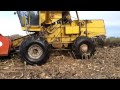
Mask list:
POLYGON ((37 44, 30 46, 28 49, 28 55, 32 59, 39 59, 42 56, 42 54, 43 49, 37 44))

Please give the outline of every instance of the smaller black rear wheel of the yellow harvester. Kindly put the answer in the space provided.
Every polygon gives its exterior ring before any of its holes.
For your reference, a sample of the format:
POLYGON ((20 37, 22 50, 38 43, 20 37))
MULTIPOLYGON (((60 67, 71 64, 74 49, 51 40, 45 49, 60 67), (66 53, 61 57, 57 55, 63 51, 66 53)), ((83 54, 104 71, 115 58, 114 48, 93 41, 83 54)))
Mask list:
POLYGON ((73 51, 77 59, 89 59, 95 52, 94 42, 87 37, 78 37, 73 43, 73 51))

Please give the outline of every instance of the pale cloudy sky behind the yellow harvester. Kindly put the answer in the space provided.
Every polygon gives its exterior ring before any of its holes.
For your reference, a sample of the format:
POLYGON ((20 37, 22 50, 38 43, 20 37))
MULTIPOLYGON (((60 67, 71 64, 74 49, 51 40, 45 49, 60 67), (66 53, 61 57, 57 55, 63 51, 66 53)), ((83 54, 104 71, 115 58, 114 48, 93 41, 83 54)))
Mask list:
MULTIPOLYGON (((71 11, 73 19, 76 18, 75 11, 71 11)), ((120 37, 120 11, 79 11, 80 19, 104 19, 107 36, 120 37)), ((2 35, 21 34, 20 22, 14 11, 0 11, 0 33, 2 35)))

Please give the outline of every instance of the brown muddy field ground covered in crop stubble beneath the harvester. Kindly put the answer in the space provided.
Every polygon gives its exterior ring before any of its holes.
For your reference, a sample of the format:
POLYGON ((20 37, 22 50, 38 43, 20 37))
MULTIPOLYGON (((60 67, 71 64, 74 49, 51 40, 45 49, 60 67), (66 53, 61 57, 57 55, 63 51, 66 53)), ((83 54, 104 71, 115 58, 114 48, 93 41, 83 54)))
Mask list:
POLYGON ((120 47, 97 48, 89 60, 55 52, 42 66, 26 65, 19 56, 2 59, 0 79, 120 79, 120 47))

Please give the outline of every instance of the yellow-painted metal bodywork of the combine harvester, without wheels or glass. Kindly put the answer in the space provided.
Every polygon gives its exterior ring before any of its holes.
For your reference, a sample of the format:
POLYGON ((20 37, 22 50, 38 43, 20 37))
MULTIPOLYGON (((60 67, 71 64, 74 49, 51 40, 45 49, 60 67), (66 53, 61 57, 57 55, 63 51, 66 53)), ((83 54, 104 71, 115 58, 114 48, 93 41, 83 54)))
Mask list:
MULTIPOLYGON (((47 21, 46 24, 51 24, 61 18, 62 18, 62 11, 49 11, 49 12, 40 11, 40 15, 39 15, 40 25, 22 27, 22 30, 30 31, 30 32, 42 31, 43 26, 41 26, 41 23, 45 23, 45 21, 47 21), (46 13, 48 13, 47 16, 46 13), (51 17, 51 15, 53 15, 53 17, 51 17)), ((41 37, 46 38, 46 40, 50 44, 54 44, 53 46, 62 47, 62 45, 64 44, 65 46, 67 46, 68 43, 72 43, 79 36, 86 36, 85 34, 86 30, 88 33, 88 37, 91 38, 100 35, 106 36, 104 20, 89 20, 87 24, 86 24, 86 20, 80 20, 80 23, 81 23, 80 29, 78 25, 78 20, 72 21, 71 24, 64 24, 64 25, 55 24, 53 25, 53 27, 55 28, 51 27, 53 29, 50 28, 44 29, 48 33, 41 37)))

